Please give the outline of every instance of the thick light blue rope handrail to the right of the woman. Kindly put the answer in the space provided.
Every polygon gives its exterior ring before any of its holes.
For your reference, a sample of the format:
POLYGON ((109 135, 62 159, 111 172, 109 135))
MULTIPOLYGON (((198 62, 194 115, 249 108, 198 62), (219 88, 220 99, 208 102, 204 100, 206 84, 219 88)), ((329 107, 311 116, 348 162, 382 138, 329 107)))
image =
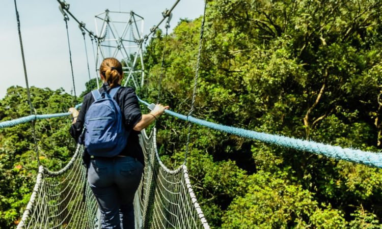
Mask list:
MULTIPOLYGON (((138 100, 146 105, 149 105, 146 101, 138 98, 138 100)), ((185 116, 176 113, 171 110, 165 110, 171 116, 178 119, 189 121, 201 126, 208 127, 210 129, 219 130, 222 132, 235 134, 240 137, 260 140, 269 144, 274 144, 281 147, 287 147, 298 151, 307 151, 314 154, 324 155, 335 159, 342 159, 350 162, 365 164, 373 167, 382 168, 382 154, 362 151, 351 148, 342 148, 339 146, 331 146, 328 144, 318 143, 311 140, 302 140, 292 137, 286 137, 282 135, 268 134, 263 132, 257 132, 253 130, 245 130, 242 128, 225 126, 205 120, 197 119, 192 116, 185 116)))

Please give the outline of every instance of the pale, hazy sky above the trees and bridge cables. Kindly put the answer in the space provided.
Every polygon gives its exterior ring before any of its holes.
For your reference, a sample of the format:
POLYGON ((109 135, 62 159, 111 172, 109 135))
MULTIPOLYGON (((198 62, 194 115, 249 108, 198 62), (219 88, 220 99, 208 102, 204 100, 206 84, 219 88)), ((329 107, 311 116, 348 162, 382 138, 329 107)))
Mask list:
MULTIPOLYGON (((175 0, 67 0, 66 2, 70 4, 70 12, 78 20, 85 22, 90 31, 96 32, 94 16, 108 9, 133 11, 142 16, 143 34, 148 34, 150 27, 163 18, 161 12, 170 9, 175 0)), ((202 15, 203 7, 204 0, 181 0, 173 10, 170 32, 180 18, 195 19, 202 15)), ((63 88, 65 92, 73 94, 65 21, 59 11, 59 3, 56 0, 17 0, 17 8, 29 86, 52 90, 63 88)), ((89 80, 85 44, 78 24, 72 18, 68 26, 75 88, 76 94, 79 95, 85 90, 85 82, 89 80)), ((165 23, 162 23, 159 28, 164 31, 164 26, 165 23)), ((91 77, 94 78, 95 58, 89 36, 86 36, 86 41, 91 77)), ((4 98, 7 89, 12 85, 26 87, 13 0, 3 1, 0 7, 0 69, 3 79, 0 83, 0 99, 4 98)))

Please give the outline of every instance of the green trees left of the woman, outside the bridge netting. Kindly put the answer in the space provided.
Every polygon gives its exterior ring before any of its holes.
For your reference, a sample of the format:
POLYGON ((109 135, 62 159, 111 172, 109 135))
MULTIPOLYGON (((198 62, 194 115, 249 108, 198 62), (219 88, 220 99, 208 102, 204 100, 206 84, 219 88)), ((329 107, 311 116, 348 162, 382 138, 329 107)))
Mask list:
MULTIPOLYGON (((73 97, 62 89, 31 88, 32 104, 37 114, 67 112, 73 97)), ((26 89, 11 87, 0 100, 0 121, 29 116, 26 89)), ((36 121, 39 159, 51 170, 61 169, 74 153, 69 135, 70 118, 36 121)), ((15 228, 36 182, 38 162, 32 123, 0 130, 0 228, 15 228)))

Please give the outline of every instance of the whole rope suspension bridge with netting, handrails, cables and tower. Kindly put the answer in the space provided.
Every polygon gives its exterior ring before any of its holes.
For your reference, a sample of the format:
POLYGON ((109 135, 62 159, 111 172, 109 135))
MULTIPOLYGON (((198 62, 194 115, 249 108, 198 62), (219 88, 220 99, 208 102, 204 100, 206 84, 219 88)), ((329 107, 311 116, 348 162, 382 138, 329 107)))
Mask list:
MULTIPOLYGON (((60 11, 64 16, 66 27, 70 16, 78 23, 81 33, 84 35, 84 39, 85 34, 88 33, 91 36, 92 41, 96 41, 96 63, 100 60, 100 58, 105 57, 105 52, 102 50, 102 46, 110 47, 110 45, 105 45, 105 42, 116 42, 116 46, 113 46, 113 48, 116 50, 113 55, 116 55, 118 52, 120 52, 122 55, 127 56, 128 54, 123 44, 123 41, 126 40, 124 36, 130 29, 137 32, 137 34, 133 35, 133 40, 127 40, 127 42, 135 43, 137 51, 135 51, 135 55, 131 62, 132 65, 127 66, 124 69, 126 75, 128 75, 125 85, 128 81, 131 80, 135 87, 142 87, 144 82, 144 64, 142 56, 143 43, 152 33, 155 32, 155 30, 163 21, 166 19, 171 19, 171 12, 179 1, 180 0, 176 1, 170 10, 163 12, 163 19, 158 23, 158 25, 151 29, 150 34, 145 36, 143 36, 142 30, 140 32, 137 30, 138 26, 135 26, 137 25, 135 18, 142 18, 135 13, 130 13, 130 20, 126 24, 122 35, 119 36, 115 36, 117 33, 113 32, 112 20, 109 14, 110 12, 106 11, 105 14, 97 15, 98 17, 103 18, 104 24, 102 25, 100 31, 95 34, 89 31, 83 23, 81 23, 74 15, 70 13, 69 5, 67 3, 61 2, 60 0, 58 0, 58 3, 60 6, 60 11), (103 17, 101 17, 102 15, 103 17), (107 38, 107 32, 112 33, 114 38, 107 38), (141 61, 142 69, 135 68, 138 59, 141 61)), ((207 3, 205 3, 205 5, 207 5, 207 3)), ((171 110, 165 111, 168 115, 174 116, 188 123, 185 159, 177 169, 169 169, 165 164, 162 163, 157 151, 156 128, 153 128, 149 134, 146 132, 146 130, 142 131, 140 136, 140 144, 144 151, 145 169, 140 187, 138 188, 138 191, 134 197, 136 228, 209 228, 208 222, 203 215, 202 208, 198 204, 197 198, 194 194, 192 184, 188 178, 188 171, 186 167, 189 135, 192 124, 197 124, 229 134, 235 134, 245 138, 259 140, 268 144, 382 168, 382 155, 379 153, 365 152, 350 148, 344 149, 341 147, 321 144, 309 140, 302 140, 281 135, 273 135, 224 126, 193 117, 192 115, 196 98, 200 54, 202 51, 205 9, 206 6, 204 8, 203 21, 201 24, 199 52, 197 59, 198 61, 194 78, 194 91, 190 110, 187 115, 181 115, 180 113, 171 110)), ((28 76, 26 75, 25 59, 23 55, 20 22, 16 0, 15 10, 18 21, 20 47, 24 65, 28 100, 31 107, 31 115, 11 121, 1 122, 0 128, 7 128, 26 122, 32 122, 32 125, 34 126, 36 120, 67 117, 70 115, 69 112, 45 115, 37 115, 34 113, 33 104, 31 103, 31 95, 29 92, 28 76)), ((166 25, 166 34, 167 28, 168 26, 166 25)), ((68 45, 70 52, 69 36, 68 45)), ((165 56, 163 54, 163 59, 164 58, 165 56)), ((71 62, 72 61, 70 58, 70 63, 71 62)), ((75 88, 73 74, 72 77, 73 88, 75 88)), ((97 83, 97 85, 99 84, 97 83)), ((143 104, 149 105, 148 102, 142 100, 141 98, 139 98, 139 101, 143 104)), ((81 104, 78 104, 77 107, 80 107, 80 105, 81 104)), ((35 134, 34 127, 32 134, 35 134)), ((75 153, 69 163, 59 171, 50 171, 39 162, 36 184, 32 190, 30 201, 26 206, 26 209, 19 224, 17 225, 17 228, 97 228, 97 226, 99 226, 101 219, 99 212, 97 211, 97 204, 90 188, 86 185, 86 168, 81 164, 80 155, 83 151, 84 147, 78 144, 76 146, 75 153), (86 201, 83 201, 84 199, 86 199, 86 201)), ((36 154, 38 155, 37 147, 36 154)), ((37 158, 39 157, 37 156, 37 158)))

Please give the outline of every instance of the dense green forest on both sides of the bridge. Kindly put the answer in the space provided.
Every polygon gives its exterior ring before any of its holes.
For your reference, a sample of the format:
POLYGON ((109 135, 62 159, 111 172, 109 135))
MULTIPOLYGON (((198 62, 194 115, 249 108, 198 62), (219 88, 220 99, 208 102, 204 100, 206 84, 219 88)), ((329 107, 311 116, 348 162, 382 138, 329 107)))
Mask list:
MULTIPOLYGON (((194 116, 378 152, 381 9, 374 0, 208 1, 194 116)), ((169 36, 157 31, 146 47, 140 97, 155 102, 159 94, 160 103, 188 113, 201 21, 183 19, 169 36)), ((37 113, 73 105, 62 90, 32 88, 32 99, 37 113)), ((1 121, 30 112, 19 87, 0 105, 1 121)), ((40 160, 52 169, 73 153, 69 125, 69 118, 36 123, 40 160)), ((187 123, 162 116, 156 125, 161 159, 176 168, 187 123)), ((15 227, 35 181, 31 126, 0 130, 1 228, 15 227)), ((197 125, 191 131, 187 167, 212 228, 382 228, 380 169, 197 125)))

